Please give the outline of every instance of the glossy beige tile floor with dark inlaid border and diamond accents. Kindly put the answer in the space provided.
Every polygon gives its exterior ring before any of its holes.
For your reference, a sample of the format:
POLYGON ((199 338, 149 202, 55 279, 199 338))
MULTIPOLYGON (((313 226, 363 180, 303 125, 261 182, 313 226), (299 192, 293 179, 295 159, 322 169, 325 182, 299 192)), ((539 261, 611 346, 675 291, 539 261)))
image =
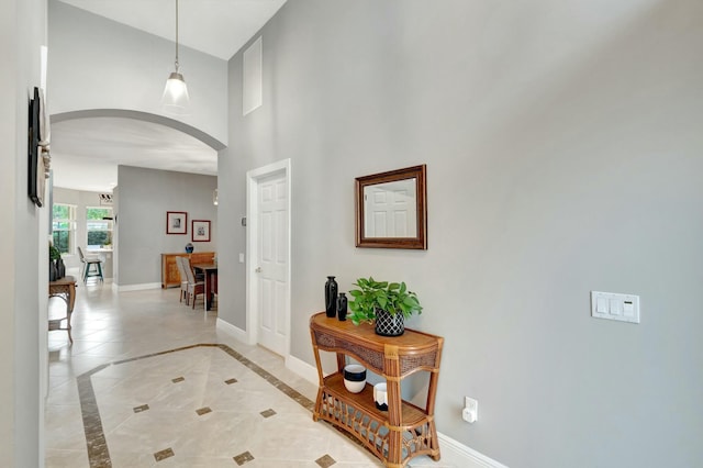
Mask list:
MULTIPOLYGON (((314 385, 178 293, 79 283, 74 344, 48 332, 47 467, 381 466, 312 421, 314 385)), ((62 307, 52 299, 49 317, 62 307)))

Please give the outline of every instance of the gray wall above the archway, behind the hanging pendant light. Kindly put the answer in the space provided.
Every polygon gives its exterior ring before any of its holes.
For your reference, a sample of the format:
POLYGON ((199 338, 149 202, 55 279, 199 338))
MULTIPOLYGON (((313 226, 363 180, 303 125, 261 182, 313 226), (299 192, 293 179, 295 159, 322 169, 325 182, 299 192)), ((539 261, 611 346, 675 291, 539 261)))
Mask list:
POLYGON ((177 119, 226 144, 225 60, 179 45, 191 111, 165 114, 160 97, 174 71, 172 42, 57 0, 48 0, 48 15, 52 115, 136 110, 177 119))

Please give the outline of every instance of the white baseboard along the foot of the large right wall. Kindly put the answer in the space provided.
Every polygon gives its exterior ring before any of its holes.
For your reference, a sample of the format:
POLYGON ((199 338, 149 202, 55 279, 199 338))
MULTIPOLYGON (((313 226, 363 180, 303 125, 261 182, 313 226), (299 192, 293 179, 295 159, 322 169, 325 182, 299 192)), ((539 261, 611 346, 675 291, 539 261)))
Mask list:
MULTIPOLYGON (((217 324, 219 323, 217 319, 217 324)), ((230 324, 227 325, 232 326, 230 324)), ((294 356, 288 355, 286 357, 286 367, 311 383, 319 383, 317 368, 315 366, 312 366, 294 356)), ((447 466, 461 468, 507 468, 505 465, 487 457, 480 452, 477 452, 473 448, 455 441, 448 435, 442 434, 440 432, 437 432, 437 438, 439 439, 439 447, 442 448, 442 466, 448 464, 447 466)))

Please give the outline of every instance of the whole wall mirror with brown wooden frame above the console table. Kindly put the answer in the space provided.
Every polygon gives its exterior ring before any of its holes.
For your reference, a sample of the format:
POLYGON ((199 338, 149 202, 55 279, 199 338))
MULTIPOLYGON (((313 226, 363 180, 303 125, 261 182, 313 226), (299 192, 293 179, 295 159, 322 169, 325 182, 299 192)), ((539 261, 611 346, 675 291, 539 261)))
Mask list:
POLYGON ((356 246, 427 249, 426 166, 356 178, 356 246))

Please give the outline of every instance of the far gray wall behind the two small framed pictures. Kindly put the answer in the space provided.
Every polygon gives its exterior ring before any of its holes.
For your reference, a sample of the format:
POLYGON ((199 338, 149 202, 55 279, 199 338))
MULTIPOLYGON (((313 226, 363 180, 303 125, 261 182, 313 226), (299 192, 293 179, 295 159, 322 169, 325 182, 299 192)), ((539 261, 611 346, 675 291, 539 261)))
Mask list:
POLYGON ((185 252, 189 242, 196 252, 216 252, 217 207, 212 204, 216 177, 120 166, 118 185, 114 282, 119 286, 160 283, 160 254, 185 252), (167 211, 188 213, 186 235, 166 234, 167 211), (192 242, 192 220, 211 221, 210 242, 192 242))

